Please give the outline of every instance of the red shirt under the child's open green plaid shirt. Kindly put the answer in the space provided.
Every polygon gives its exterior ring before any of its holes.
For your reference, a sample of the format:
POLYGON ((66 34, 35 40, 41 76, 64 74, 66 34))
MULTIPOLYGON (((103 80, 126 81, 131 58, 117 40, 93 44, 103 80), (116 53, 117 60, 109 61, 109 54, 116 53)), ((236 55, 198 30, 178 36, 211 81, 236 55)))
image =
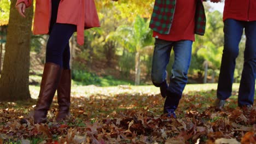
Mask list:
POLYGON ((153 37, 168 41, 195 41, 196 0, 177 0, 170 34, 153 32, 153 37))

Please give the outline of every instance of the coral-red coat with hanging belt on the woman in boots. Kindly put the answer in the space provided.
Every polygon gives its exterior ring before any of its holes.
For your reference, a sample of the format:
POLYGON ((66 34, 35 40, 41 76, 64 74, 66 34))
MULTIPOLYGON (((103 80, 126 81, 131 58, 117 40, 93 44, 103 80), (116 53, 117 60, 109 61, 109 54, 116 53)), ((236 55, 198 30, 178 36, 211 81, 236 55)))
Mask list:
MULTIPOLYGON (((18 0, 30 7, 32 0, 18 0)), ((48 34, 51 17, 51 0, 37 0, 34 12, 34 34, 48 34)), ((84 44, 84 29, 100 27, 94 0, 60 1, 57 23, 77 25, 77 43, 84 44)))

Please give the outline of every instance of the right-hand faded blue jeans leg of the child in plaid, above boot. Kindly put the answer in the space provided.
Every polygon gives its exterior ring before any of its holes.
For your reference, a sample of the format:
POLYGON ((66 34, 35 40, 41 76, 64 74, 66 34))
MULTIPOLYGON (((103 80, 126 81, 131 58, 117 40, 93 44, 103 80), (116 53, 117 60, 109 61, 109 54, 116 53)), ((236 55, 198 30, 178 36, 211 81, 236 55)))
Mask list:
POLYGON ((172 75, 170 76, 170 85, 168 91, 181 97, 185 85, 188 82, 188 69, 191 61, 193 41, 179 40, 174 42, 174 63, 172 66, 172 75))

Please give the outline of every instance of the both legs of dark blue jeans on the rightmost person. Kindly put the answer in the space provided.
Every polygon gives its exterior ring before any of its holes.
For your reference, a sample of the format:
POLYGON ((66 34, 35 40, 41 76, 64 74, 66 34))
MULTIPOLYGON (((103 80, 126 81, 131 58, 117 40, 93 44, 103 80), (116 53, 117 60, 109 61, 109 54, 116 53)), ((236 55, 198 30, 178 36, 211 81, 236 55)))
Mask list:
POLYGON ((245 28, 246 47, 240 87, 238 105, 253 105, 256 77, 256 21, 224 21, 224 50, 218 81, 217 97, 228 99, 232 92, 238 45, 245 28))

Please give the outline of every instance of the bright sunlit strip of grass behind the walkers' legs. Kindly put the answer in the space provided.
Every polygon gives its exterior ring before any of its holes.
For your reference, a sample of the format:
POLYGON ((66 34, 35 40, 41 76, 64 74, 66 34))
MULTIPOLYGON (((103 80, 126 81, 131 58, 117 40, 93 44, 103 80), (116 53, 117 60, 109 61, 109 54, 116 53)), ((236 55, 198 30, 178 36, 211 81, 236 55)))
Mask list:
MULTIPOLYGON (((234 83, 233 94, 237 95, 239 88, 239 83, 234 83)), ((39 94, 39 86, 30 86, 30 93, 33 99, 36 99, 39 94)), ((184 94, 206 92, 206 91, 216 91, 217 83, 207 83, 207 84, 188 84, 184 89, 184 94)), ((160 94, 158 87, 153 85, 149 86, 130 86, 130 85, 119 85, 111 87, 98 87, 95 85, 80 86, 72 85, 71 94, 73 97, 90 97, 92 95, 101 94, 106 96, 113 96, 116 94, 160 94)), ((212 94, 211 94, 212 95, 212 94)), ((231 97, 232 99, 232 97, 231 97)))

